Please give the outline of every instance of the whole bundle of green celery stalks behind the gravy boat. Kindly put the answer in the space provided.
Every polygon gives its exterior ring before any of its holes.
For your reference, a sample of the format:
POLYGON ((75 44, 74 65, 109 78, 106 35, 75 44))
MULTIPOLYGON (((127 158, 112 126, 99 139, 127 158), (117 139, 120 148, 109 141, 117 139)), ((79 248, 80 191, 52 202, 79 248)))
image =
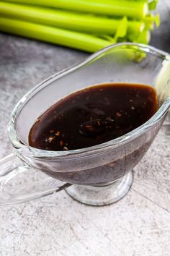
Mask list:
POLYGON ((94 52, 112 43, 148 43, 157 0, 0 1, 0 31, 94 52))

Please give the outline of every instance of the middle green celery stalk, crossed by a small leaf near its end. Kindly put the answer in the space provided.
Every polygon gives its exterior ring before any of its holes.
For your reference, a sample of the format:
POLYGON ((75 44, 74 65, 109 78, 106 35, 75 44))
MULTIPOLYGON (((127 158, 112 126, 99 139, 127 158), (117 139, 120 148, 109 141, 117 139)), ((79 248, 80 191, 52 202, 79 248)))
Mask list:
MULTIPOLYGON (((0 15, 97 35, 114 35, 121 22, 120 19, 115 20, 60 9, 6 3, 4 1, 0 1, 0 15)), ((145 27, 145 23, 140 21, 127 21, 127 25, 128 33, 140 33, 145 27)))

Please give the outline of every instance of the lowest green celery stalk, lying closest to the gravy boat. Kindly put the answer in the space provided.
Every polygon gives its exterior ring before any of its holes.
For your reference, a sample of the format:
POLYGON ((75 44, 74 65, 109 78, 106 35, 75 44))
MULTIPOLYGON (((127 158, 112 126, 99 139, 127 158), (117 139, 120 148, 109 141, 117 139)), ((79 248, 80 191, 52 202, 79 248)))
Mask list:
POLYGON ((109 41, 94 35, 4 17, 0 17, 0 31, 88 52, 98 51, 111 44, 109 41))

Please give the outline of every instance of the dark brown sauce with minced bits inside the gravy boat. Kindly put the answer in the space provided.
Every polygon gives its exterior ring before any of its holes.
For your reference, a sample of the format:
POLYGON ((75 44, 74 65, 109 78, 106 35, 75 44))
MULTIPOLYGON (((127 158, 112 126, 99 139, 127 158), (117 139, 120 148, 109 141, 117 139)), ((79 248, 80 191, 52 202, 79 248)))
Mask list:
POLYGON ((98 145, 140 127, 158 110, 148 85, 108 83, 68 95, 40 116, 29 144, 44 150, 75 150, 98 145))

